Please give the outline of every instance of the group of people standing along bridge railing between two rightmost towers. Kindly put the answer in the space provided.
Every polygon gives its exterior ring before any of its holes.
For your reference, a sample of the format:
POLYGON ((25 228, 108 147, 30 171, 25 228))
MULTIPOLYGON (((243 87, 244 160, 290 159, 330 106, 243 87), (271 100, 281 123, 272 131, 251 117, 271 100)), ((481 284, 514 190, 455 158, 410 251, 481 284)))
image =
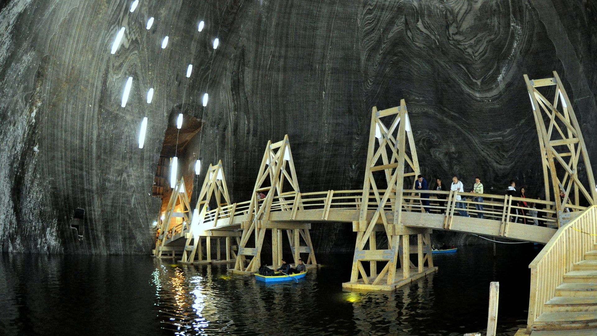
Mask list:
MULTIPOLYGON (((429 193, 422 192, 422 191, 435 189, 436 191, 448 191, 449 190, 449 191, 465 192, 464 184, 461 181, 458 181, 457 176, 454 176, 452 178, 452 183, 450 185, 450 189, 446 188, 446 186, 442 183, 441 178, 436 178, 435 182, 436 182, 435 187, 432 189, 429 189, 429 184, 427 183, 427 180, 423 177, 423 175, 418 175, 417 180, 414 182, 414 188, 417 191, 421 191, 420 192, 421 206, 423 207, 423 210, 426 213, 430 212, 429 193)), ((483 219, 483 196, 482 195, 483 195, 484 190, 483 190, 483 183, 481 182, 481 178, 479 176, 477 176, 475 178, 475 183, 473 184, 473 188, 470 190, 470 192, 473 194, 476 194, 472 198, 472 201, 475 204, 477 218, 483 219)), ((506 189, 506 194, 510 195, 510 196, 514 196, 514 197, 519 197, 519 198, 527 198, 527 196, 525 195, 525 188, 521 188, 520 192, 516 192, 516 182, 515 181, 510 181, 510 186, 508 186, 508 188, 506 189)), ((438 203, 439 203, 439 207, 440 207, 439 210, 441 211, 442 214, 445 214, 446 195, 438 194, 437 198, 438 198, 438 203)), ((466 203, 463 202, 464 200, 466 200, 466 198, 464 196, 462 196, 460 194, 456 194, 456 207, 458 208, 458 214, 460 214, 460 216, 463 216, 463 217, 470 217, 470 214, 468 213, 468 211, 466 211, 466 203)), ((518 201, 517 206, 521 207, 523 209, 511 209, 510 210, 510 214, 512 214, 513 221, 518 222, 518 220, 521 220, 521 222, 524 224, 539 225, 539 222, 537 219, 537 207, 534 203, 527 202, 527 201, 518 201), (520 211, 521 213, 519 213, 518 210, 521 210, 520 211), (527 222, 526 217, 518 217, 519 214, 521 216, 533 217, 533 223, 531 223, 530 221, 527 222)))

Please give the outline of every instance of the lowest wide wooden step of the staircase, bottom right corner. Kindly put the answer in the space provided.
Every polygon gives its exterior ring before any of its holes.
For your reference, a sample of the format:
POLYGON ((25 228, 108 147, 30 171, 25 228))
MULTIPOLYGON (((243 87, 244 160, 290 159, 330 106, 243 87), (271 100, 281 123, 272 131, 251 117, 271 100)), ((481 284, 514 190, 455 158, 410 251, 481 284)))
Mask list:
POLYGON ((597 312, 543 313, 533 323, 534 330, 573 330, 597 328, 597 312))

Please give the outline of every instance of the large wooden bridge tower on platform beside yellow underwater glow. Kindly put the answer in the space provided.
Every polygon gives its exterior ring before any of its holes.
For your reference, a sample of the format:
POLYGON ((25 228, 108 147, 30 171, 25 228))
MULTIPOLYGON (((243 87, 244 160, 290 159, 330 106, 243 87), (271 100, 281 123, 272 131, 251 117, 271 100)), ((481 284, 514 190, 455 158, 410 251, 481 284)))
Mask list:
POLYGON ((353 222, 357 237, 352 273, 350 282, 345 282, 342 287, 394 290, 437 269, 433 267, 430 230, 407 228, 401 223, 405 178, 411 179, 410 188, 414 188, 418 173, 417 151, 404 99, 399 107, 382 111, 374 107, 361 212, 358 222, 353 222), (373 216, 368 215, 368 209, 375 209, 373 216), (378 249, 378 232, 386 235, 387 248, 378 249), (409 235, 414 234, 417 235, 417 266, 410 261, 409 235), (369 264, 369 272, 365 270, 364 262, 369 264), (424 267, 425 262, 427 267, 424 267), (381 265, 378 263, 385 264, 379 272, 381 265), (402 265, 401 275, 396 275, 398 265, 402 265), (411 268, 416 270, 411 272, 411 268))

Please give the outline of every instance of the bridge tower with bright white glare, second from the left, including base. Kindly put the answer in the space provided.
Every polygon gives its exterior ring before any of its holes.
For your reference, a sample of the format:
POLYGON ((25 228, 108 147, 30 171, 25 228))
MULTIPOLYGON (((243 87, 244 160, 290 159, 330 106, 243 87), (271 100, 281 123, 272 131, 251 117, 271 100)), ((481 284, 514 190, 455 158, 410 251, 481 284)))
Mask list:
MULTIPOLYGON (((216 239, 216 256, 221 257, 220 252, 220 239, 226 238, 226 260, 230 260, 230 254, 234 254, 232 251, 231 238, 234 237, 233 232, 212 232, 207 231, 210 229, 210 219, 206 219, 208 213, 208 206, 211 204, 217 211, 222 206, 230 204, 230 195, 228 193, 228 187, 226 185, 226 176, 224 175, 224 169, 222 167, 221 160, 214 166, 210 164, 205 174, 205 179, 201 185, 201 190, 198 193, 197 203, 191 216, 191 225, 189 232, 186 234, 186 242, 184 244, 184 251, 181 263, 193 263, 195 262, 195 256, 198 257, 198 261, 203 261, 202 254, 202 239, 205 239, 205 245, 207 247, 207 260, 205 262, 212 262, 211 260, 211 241, 216 239)), ((217 259, 220 259, 217 257, 217 259)))

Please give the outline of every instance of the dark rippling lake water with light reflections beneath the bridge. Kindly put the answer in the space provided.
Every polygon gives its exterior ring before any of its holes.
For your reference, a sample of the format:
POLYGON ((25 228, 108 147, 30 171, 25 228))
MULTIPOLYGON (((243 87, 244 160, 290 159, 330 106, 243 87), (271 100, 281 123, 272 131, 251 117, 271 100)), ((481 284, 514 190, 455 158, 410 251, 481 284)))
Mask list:
POLYGON ((487 328, 500 282, 498 333, 526 323, 533 244, 464 247, 395 292, 343 291, 352 254, 320 255, 306 279, 265 285, 226 265, 145 256, 2 254, 1 335, 462 335, 487 328))

